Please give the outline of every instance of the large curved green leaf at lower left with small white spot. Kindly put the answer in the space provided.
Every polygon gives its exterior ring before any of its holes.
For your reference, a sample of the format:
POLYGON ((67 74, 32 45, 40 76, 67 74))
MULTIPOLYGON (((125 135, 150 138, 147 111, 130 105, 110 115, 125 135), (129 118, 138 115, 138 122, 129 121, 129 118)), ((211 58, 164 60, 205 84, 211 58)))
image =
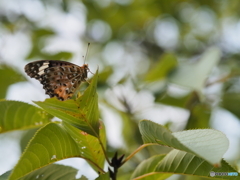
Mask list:
POLYGON ((77 144, 64 128, 49 123, 39 129, 30 141, 9 180, 18 179, 36 169, 70 157, 81 157, 77 144))

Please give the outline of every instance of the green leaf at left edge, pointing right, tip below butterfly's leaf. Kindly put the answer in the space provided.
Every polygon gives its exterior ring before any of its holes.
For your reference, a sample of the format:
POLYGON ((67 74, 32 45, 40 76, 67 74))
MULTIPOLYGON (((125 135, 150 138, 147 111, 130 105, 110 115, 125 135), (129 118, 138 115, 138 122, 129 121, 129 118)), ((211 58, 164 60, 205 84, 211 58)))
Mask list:
POLYGON ((0 101, 0 133, 40 127, 52 118, 33 105, 19 101, 0 101))

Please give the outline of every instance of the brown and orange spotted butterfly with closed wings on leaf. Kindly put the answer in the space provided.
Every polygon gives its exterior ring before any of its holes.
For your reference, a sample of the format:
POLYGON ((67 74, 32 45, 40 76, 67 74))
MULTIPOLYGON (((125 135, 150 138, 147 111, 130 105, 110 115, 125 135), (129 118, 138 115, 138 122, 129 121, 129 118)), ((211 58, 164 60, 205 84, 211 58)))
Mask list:
POLYGON ((27 75, 39 80, 46 94, 61 101, 71 98, 81 82, 86 82, 88 71, 87 64, 58 60, 34 61, 25 66, 27 75))

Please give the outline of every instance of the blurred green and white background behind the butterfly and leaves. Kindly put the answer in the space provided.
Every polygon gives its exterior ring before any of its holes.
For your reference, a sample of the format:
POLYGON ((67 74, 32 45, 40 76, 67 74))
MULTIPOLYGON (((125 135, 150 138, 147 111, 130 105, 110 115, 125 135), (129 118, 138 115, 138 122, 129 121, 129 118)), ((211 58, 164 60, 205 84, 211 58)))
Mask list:
MULTIPOLYGON (((41 59, 82 65, 90 42, 86 63, 92 72, 100 71, 109 155, 135 150, 142 143, 138 122, 149 119, 172 131, 224 132, 230 141, 224 158, 239 169, 239 8, 238 0, 0 0, 0 98, 43 101, 47 96, 41 84, 26 76, 24 66, 41 59), (208 63, 195 73, 213 47, 219 52, 217 63, 209 73, 204 71, 208 63), (184 66, 192 67, 183 71, 186 77, 197 83, 206 76, 205 83, 196 89, 171 81, 184 66)), ((26 132, 0 135, 0 174, 16 164, 26 132)), ((119 179, 128 179, 147 157, 169 150, 144 149, 120 169, 119 179)), ((79 169, 78 177, 97 177, 84 160, 59 163, 79 169)))

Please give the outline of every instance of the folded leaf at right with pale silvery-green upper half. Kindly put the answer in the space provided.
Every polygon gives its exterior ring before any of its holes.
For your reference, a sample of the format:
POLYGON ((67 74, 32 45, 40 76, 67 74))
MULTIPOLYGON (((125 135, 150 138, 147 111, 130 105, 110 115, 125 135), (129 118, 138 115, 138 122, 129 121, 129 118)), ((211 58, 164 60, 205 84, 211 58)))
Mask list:
POLYGON ((171 133, 163 126, 143 120, 139 124, 144 143, 158 143, 202 157, 219 166, 229 142, 226 136, 213 129, 198 129, 171 133))

